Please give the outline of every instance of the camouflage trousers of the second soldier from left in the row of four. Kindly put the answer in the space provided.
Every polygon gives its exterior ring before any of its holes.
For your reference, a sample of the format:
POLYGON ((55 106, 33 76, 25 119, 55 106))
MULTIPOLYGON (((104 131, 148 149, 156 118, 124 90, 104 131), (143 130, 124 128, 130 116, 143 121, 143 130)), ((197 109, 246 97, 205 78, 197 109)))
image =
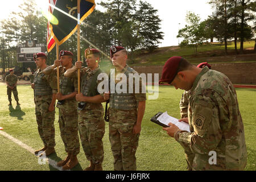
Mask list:
POLYGON ((77 110, 59 109, 60 137, 63 140, 65 151, 77 155, 80 152, 80 143, 77 128, 77 110))

